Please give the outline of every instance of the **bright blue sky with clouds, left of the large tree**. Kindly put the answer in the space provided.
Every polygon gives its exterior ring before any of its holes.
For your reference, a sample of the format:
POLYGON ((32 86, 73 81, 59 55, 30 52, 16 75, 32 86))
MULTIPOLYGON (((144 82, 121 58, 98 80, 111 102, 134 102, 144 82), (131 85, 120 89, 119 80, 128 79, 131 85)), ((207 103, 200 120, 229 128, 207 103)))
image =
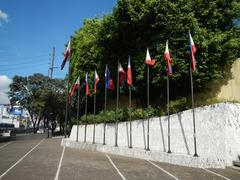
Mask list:
POLYGON ((48 75, 55 47, 53 77, 63 78, 60 65, 69 37, 86 18, 111 13, 116 0, 0 0, 0 104, 5 103, 14 75, 48 75))

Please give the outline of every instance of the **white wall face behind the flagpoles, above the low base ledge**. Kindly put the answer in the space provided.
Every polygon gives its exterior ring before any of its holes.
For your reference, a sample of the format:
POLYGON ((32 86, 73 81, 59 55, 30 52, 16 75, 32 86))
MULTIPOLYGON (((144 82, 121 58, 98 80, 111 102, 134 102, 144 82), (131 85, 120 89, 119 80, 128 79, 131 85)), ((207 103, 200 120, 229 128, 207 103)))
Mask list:
MULTIPOLYGON (((221 103, 195 109, 197 152, 201 157, 220 158, 231 165, 240 155, 240 104, 221 103)), ((193 155, 192 110, 171 115, 171 151, 193 155)), ((76 140, 77 126, 73 126, 70 139, 76 140)), ((127 147, 129 122, 119 123, 118 146, 127 147)), ((133 148, 144 149, 147 138, 147 121, 132 121, 133 148)), ((168 150, 167 117, 150 119, 150 150, 168 150)), ((92 143, 93 125, 87 126, 87 142, 92 143)), ((79 126, 79 141, 84 140, 84 125, 79 126)), ((103 124, 96 125, 96 143, 103 143, 103 124)), ((115 124, 106 126, 106 144, 115 144, 115 124)))

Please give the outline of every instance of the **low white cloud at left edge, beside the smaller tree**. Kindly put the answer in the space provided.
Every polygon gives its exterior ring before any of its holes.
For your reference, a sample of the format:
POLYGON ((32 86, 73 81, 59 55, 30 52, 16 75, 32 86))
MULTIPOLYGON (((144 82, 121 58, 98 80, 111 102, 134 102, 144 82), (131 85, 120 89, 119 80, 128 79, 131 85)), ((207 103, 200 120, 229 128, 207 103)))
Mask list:
POLYGON ((9 85, 12 83, 12 80, 5 75, 0 75, 0 104, 8 104, 9 99, 6 94, 9 91, 9 85))

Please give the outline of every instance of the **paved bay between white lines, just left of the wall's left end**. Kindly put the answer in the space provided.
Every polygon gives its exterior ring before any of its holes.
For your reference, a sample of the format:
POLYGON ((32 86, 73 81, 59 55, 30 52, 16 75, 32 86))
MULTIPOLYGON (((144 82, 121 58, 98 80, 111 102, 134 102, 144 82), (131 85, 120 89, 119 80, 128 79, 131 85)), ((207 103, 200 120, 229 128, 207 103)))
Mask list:
POLYGON ((52 180, 54 179, 62 152, 61 139, 46 139, 3 179, 52 180))

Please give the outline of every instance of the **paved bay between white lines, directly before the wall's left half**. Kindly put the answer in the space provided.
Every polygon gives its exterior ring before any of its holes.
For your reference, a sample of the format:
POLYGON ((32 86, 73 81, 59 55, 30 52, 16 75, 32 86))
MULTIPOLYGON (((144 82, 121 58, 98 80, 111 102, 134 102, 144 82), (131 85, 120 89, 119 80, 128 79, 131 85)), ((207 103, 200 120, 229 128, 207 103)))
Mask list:
POLYGON ((61 180, 120 180, 105 154, 66 148, 59 174, 61 180))

